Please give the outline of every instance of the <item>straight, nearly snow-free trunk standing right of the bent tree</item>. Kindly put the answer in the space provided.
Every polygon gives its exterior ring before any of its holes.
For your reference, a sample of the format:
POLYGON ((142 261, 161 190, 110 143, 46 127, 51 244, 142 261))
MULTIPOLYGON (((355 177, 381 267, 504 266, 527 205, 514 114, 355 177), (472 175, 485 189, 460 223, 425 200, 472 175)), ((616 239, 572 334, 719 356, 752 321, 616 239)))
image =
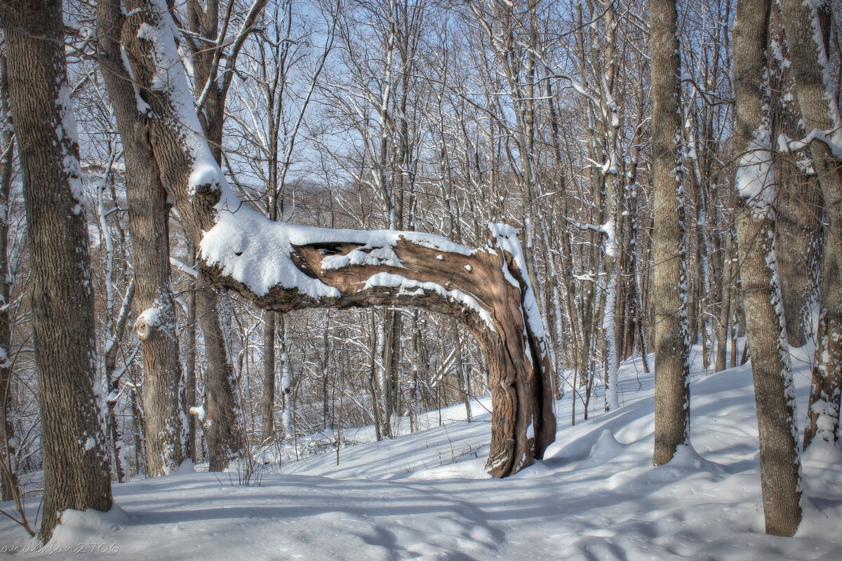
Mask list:
POLYGON ((655 450, 668 463, 690 430, 684 188, 679 176, 680 59, 674 0, 649 4, 652 29, 655 450))

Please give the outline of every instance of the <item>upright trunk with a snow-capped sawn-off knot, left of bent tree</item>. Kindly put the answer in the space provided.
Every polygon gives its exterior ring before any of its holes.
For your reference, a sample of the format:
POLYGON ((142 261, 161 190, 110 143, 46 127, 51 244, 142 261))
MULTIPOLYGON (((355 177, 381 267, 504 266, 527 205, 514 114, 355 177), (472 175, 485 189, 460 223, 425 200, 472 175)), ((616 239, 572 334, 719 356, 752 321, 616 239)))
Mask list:
POLYGON ((120 53, 120 28, 125 20, 120 3, 99 3, 97 16, 99 63, 125 160, 136 279, 135 331, 143 350, 146 470, 147 477, 157 477, 172 472, 186 458, 184 394, 169 262, 169 205, 152 156, 146 120, 120 53))

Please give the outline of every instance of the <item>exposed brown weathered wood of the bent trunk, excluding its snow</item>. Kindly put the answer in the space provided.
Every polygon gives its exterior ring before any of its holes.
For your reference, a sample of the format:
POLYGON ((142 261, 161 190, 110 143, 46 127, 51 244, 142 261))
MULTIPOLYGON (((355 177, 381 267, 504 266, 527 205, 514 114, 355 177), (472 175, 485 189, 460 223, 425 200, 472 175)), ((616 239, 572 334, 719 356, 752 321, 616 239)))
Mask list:
MULTIPOLYGON (((341 236, 341 230, 337 230, 337 236, 341 236)), ((514 241, 509 237, 505 239, 514 241)), ((525 314, 524 307, 529 302, 524 299, 530 298, 531 292, 525 274, 513 261, 513 254, 502 249, 498 243, 490 245, 488 250, 466 256, 402 238, 393 251, 403 267, 354 265, 322 269, 322 260, 327 255, 347 255, 359 246, 337 241, 295 247, 291 258, 296 267, 339 290, 338 297, 329 299, 313 299, 296 290, 280 287, 258 296, 245 284, 221 273, 218 267, 203 265, 202 270, 217 286, 234 288, 259 306, 284 312, 311 307, 410 305, 455 315, 472 332, 487 357, 493 400, 488 472, 495 477, 503 477, 530 465, 533 458, 541 458, 546 446, 555 438, 552 378, 549 376, 552 367, 546 356, 546 342, 540 333, 534 331, 536 326, 530 323, 535 316, 525 314), (461 290, 471 294, 481 303, 482 310, 488 311, 490 325, 472 307, 431 289, 410 291, 401 286, 366 288, 366 280, 378 273, 399 274, 408 279, 408 283, 418 283, 418 286, 431 283, 449 291, 461 290), (519 286, 509 283, 504 278, 506 273, 516 279, 519 286)))

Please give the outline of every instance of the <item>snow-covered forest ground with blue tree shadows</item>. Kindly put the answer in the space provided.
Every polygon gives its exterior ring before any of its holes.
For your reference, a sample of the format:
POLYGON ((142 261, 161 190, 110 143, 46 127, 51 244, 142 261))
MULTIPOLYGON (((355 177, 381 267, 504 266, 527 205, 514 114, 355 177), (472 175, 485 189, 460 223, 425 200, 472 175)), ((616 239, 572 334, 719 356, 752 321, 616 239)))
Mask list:
MULTIPOLYGON (((809 378, 803 366, 796 374, 802 421, 809 378)), ((86 557, 93 550, 161 561, 842 559, 838 448, 814 447, 804 458, 807 500, 797 537, 762 533, 748 367, 695 370, 693 448, 658 468, 650 465, 653 378, 639 361, 625 363, 620 376, 619 410, 571 427, 570 400, 559 401, 557 442, 543 462, 509 479, 482 471, 490 427, 483 402, 472 423, 437 426, 434 412, 429 430, 342 448, 338 464, 333 451, 275 466, 253 486, 238 485, 237 473, 116 485, 119 508, 66 513, 49 555, 9 553, 35 542, 0 521, 7 552, 0 557, 72 558, 61 551, 71 548, 86 557)), ((464 407, 443 417, 464 418, 464 407)), ((355 440, 365 440, 365 431, 355 440)))

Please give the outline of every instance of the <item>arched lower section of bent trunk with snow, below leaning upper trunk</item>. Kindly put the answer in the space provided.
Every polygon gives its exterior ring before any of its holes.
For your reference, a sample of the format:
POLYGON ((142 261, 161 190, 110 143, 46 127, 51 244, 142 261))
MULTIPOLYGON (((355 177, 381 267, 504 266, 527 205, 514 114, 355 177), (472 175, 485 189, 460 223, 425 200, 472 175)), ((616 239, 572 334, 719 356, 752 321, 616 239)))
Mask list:
POLYGON ((223 213, 201 243, 200 269, 211 283, 282 312, 398 305, 453 315, 487 358, 488 473, 514 474, 553 442, 552 367, 514 228, 490 225, 488 245, 470 250, 440 236, 306 228, 245 208, 223 213))

